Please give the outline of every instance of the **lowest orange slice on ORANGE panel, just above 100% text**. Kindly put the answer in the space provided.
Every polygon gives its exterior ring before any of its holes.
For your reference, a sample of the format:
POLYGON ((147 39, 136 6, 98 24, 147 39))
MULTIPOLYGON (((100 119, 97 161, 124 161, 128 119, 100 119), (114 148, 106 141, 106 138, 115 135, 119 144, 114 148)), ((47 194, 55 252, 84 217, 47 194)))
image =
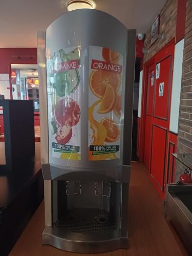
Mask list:
POLYGON ((119 138, 119 127, 115 121, 109 117, 103 118, 101 121, 102 125, 106 129, 106 142, 114 142, 119 138))

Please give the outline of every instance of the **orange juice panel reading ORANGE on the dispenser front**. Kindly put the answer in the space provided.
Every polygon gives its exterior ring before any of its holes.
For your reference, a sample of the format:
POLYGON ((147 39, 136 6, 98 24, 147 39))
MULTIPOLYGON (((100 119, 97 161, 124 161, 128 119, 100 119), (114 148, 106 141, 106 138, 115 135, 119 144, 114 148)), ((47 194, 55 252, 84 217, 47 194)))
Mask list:
POLYGON ((120 158, 122 65, 120 53, 89 47, 90 161, 120 158))

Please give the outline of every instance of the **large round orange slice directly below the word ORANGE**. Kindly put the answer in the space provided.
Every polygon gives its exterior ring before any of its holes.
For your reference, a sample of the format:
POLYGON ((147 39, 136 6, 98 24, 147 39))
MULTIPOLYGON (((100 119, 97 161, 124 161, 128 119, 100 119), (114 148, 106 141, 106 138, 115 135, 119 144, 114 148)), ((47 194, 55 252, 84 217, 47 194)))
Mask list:
POLYGON ((95 96, 102 98, 105 93, 106 84, 111 84, 114 90, 118 92, 121 82, 120 79, 121 76, 117 73, 105 70, 93 70, 89 80, 90 89, 95 96))

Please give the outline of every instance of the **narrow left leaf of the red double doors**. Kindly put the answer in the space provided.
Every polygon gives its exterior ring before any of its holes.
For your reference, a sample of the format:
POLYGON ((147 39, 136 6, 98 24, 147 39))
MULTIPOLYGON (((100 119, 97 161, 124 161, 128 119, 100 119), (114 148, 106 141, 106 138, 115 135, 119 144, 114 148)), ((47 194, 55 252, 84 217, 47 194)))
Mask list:
POLYGON ((147 92, 146 92, 146 116, 145 116, 145 135, 144 135, 144 164, 150 169, 151 137, 152 137, 152 113, 153 95, 155 82, 154 63, 148 67, 147 72, 147 92))

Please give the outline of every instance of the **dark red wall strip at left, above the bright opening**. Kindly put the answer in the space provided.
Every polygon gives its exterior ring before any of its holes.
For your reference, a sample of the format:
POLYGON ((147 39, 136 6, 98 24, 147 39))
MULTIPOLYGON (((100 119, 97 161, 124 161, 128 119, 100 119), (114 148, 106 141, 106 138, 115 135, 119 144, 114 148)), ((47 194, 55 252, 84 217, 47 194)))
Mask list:
POLYGON ((0 73, 9 73, 9 63, 37 63, 36 48, 0 48, 0 73))

